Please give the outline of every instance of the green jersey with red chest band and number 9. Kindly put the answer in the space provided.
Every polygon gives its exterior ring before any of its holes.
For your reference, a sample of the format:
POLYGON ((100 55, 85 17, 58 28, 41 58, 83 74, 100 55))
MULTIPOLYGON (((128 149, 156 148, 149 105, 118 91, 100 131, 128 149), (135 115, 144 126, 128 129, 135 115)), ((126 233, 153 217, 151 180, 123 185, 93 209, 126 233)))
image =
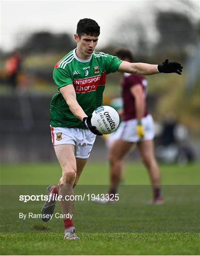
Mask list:
POLYGON ((72 114, 64 100, 60 88, 73 84, 78 104, 87 114, 102 106, 106 74, 116 72, 122 61, 116 56, 94 51, 88 60, 81 60, 76 49, 62 58, 53 70, 53 79, 58 93, 50 104, 51 126, 68 128, 87 128, 72 114))

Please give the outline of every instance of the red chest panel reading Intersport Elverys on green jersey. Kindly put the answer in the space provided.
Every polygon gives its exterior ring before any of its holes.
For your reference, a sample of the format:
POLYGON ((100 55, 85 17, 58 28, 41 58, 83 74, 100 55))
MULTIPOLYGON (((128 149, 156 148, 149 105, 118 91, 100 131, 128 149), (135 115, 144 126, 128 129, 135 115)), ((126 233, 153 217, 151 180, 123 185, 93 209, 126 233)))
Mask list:
POLYGON ((87 77, 83 79, 74 79, 73 85, 77 93, 96 91, 98 85, 104 85, 106 80, 106 72, 101 75, 87 77))

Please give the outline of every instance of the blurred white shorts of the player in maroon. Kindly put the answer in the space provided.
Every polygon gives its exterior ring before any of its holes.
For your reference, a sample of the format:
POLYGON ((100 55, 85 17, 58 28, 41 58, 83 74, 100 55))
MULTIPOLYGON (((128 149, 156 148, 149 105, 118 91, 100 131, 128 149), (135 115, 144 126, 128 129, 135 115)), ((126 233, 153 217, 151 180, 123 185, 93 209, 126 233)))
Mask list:
POLYGON ((106 145, 111 147, 113 141, 116 139, 122 139, 129 142, 138 142, 141 140, 152 140, 155 136, 154 121, 150 114, 141 119, 144 127, 144 137, 141 139, 136 132, 137 119, 130 119, 128 121, 122 121, 119 128, 111 133, 106 139, 106 145))

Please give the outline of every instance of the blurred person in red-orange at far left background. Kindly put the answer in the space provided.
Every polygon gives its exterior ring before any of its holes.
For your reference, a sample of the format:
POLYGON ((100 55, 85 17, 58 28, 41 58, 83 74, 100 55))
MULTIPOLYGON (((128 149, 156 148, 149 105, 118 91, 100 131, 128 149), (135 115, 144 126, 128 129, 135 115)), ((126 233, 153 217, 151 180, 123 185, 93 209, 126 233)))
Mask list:
POLYGON ((6 61, 6 76, 12 89, 17 88, 18 74, 21 71, 22 55, 15 51, 6 61))

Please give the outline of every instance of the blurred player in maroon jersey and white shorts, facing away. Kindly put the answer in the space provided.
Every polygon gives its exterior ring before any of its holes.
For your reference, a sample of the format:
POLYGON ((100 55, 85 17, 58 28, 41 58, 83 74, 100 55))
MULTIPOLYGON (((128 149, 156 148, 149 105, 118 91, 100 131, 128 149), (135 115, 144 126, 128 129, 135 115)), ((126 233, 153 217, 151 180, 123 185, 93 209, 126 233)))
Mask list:
MULTIPOLYGON (((123 61, 133 62, 133 55, 129 50, 118 50, 115 55, 123 61)), ((148 113, 146 103, 147 85, 148 82, 144 76, 123 73, 121 84, 123 121, 107 141, 110 162, 109 194, 117 192, 122 178, 124 158, 132 146, 136 144, 153 186, 152 203, 161 204, 163 197, 161 196, 160 171, 154 155, 154 122, 148 113)))

